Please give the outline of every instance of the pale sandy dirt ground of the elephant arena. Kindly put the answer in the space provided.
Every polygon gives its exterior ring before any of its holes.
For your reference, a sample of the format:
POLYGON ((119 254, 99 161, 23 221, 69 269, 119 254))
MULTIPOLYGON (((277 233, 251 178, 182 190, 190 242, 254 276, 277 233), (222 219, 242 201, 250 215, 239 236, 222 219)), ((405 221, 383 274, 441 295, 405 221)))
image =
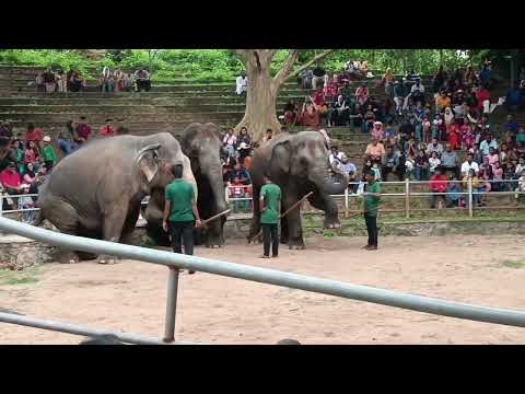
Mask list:
MULTIPOLYGON (((520 236, 312 237, 307 250, 259 259, 230 242, 196 255, 479 305, 525 310, 520 236)), ((167 268, 122 260, 49 264, 37 281, 0 286, 0 311, 162 336, 167 268)), ((524 344, 525 331, 405 311, 202 273, 180 275, 176 337, 207 344, 524 344)), ((77 344, 68 334, 0 323, 0 344, 77 344)))

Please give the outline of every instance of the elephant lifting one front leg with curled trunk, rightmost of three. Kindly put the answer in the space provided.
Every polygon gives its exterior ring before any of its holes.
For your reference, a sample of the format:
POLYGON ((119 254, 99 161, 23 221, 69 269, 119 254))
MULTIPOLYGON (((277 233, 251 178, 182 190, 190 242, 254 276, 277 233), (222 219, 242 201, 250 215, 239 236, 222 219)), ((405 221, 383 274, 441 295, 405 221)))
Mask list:
MULTIPOLYGON (((348 174, 331 169, 326 140, 319 132, 283 132, 257 149, 253 158, 250 174, 255 204, 248 241, 260 230, 258 199, 265 173, 281 188, 281 213, 313 192, 308 201, 325 211, 325 228, 340 227, 337 204, 330 195, 345 193, 348 174), (330 170, 338 173, 339 183, 331 181, 330 170)), ((299 208, 281 219, 280 241, 288 243, 290 248, 304 248, 299 208)))

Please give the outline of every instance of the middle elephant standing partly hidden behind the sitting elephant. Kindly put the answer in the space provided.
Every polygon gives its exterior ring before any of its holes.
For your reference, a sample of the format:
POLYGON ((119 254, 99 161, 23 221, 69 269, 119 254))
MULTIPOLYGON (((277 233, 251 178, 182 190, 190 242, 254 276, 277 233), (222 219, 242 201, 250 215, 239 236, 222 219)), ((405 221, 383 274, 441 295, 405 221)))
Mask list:
MULTIPOLYGON (((191 172, 196 178, 199 189, 197 207, 200 217, 206 220, 228 209, 222 179, 221 154, 222 139, 221 130, 213 124, 192 123, 180 134, 174 135, 191 163, 191 172)), ((147 215, 148 233, 161 245, 167 243, 165 233, 162 231, 162 211, 164 209, 164 196, 152 194, 148 204, 150 213, 147 215)), ((196 230, 197 244, 201 237, 208 247, 220 247, 224 244, 223 227, 226 217, 223 216, 211 221, 205 230, 196 230), (200 236, 202 235, 202 236, 200 236)))

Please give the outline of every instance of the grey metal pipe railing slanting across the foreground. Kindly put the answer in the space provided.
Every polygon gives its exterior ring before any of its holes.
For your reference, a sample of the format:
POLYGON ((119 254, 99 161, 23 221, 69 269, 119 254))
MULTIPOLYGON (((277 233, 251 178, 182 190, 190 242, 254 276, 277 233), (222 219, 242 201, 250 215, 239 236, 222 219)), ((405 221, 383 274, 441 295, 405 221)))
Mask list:
MULTIPOLYGON (((315 293, 335 296, 345 299, 366 301, 411 311, 432 313, 436 315, 525 327, 525 312, 516 310, 472 305, 436 298, 384 290, 369 286, 351 285, 338 280, 285 273, 277 269, 252 267, 244 264, 228 263, 211 258, 188 256, 140 246, 124 245, 107 241, 61 234, 5 218, 0 218, 0 230, 67 250, 95 254, 102 253, 168 267, 170 276, 163 343, 175 341, 178 269, 180 268, 287 287, 291 289, 305 290, 315 293)), ((0 322, 65 332, 75 335, 92 335, 96 333, 114 334, 120 340, 130 344, 161 343, 160 339, 156 340, 155 338, 144 337, 137 334, 109 333, 60 322, 20 316, 13 313, 0 313, 0 322)))

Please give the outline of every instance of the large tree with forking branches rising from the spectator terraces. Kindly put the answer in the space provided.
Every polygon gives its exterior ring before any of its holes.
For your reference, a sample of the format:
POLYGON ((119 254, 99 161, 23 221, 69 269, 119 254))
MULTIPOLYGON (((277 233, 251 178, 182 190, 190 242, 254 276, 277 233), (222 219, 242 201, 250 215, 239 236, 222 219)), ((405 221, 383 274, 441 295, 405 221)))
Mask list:
POLYGON ((277 96, 284 82, 296 77, 301 71, 332 51, 332 49, 327 49, 319 53, 313 51, 313 54, 310 54, 310 51, 303 53, 301 55, 310 58, 310 60, 305 60, 296 67, 300 50, 290 49, 281 68, 272 77, 270 65, 279 49, 231 50, 244 65, 248 78, 246 109, 236 129, 246 126, 256 141, 262 139, 268 128, 271 128, 276 134, 281 130, 281 125, 277 118, 276 104, 277 96))

